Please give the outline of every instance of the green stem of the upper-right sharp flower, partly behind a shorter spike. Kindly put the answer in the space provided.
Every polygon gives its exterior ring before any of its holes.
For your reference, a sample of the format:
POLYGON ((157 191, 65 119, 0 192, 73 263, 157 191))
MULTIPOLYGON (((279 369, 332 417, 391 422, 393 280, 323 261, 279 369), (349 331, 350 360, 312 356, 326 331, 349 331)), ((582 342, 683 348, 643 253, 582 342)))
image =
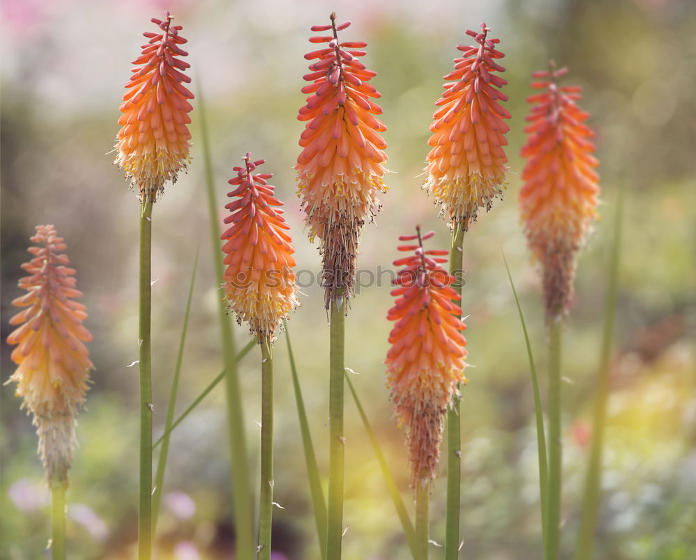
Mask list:
MULTIPOLYGON (((461 296, 465 224, 457 224, 452 231, 450 246, 450 274, 457 281, 452 288, 461 296)), ((459 398, 447 412, 447 504, 445 513, 445 559, 459 556, 459 508, 461 502, 461 420, 459 398)))

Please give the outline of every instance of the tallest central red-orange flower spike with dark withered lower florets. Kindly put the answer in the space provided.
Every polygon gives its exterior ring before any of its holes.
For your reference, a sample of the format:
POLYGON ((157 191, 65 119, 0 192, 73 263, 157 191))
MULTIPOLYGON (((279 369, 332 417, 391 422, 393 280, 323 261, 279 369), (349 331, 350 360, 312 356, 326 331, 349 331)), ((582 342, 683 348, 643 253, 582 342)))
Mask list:
POLYGON ((316 62, 304 77, 311 84, 302 93, 310 96, 297 117, 307 125, 295 169, 310 239, 321 240, 326 309, 337 291, 353 295, 361 229, 379 210, 377 192, 386 192, 386 143, 378 134, 386 126, 374 118, 382 110, 370 100, 381 95, 367 84, 377 74, 358 61, 366 42, 338 41, 338 31, 349 25, 337 25, 332 13, 331 25, 312 27, 332 35, 310 38, 328 45, 305 55, 316 62))

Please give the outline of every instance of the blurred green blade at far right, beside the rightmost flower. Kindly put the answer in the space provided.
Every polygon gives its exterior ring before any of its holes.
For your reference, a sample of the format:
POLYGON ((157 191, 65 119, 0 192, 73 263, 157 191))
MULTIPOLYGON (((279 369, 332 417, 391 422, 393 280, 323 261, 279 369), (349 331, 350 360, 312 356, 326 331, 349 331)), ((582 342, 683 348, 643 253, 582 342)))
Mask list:
POLYGON ((614 240, 609 261, 609 277, 607 300, 604 308, 604 330, 602 349, 599 362, 599 378, 597 379, 596 400, 592 417, 592 440, 590 442, 590 458, 585 474, 585 492, 583 509, 580 514, 580 530, 576 545, 576 560, 590 560, 594 546, 594 530, 596 527, 597 511, 599 510, 599 490, 602 478, 602 455, 604 431, 606 426, 606 410, 609 400, 609 371, 611 365, 612 338, 614 334, 616 297, 619 286, 619 256, 621 254, 621 222, 622 222, 622 191, 619 190, 619 200, 614 221, 614 240))

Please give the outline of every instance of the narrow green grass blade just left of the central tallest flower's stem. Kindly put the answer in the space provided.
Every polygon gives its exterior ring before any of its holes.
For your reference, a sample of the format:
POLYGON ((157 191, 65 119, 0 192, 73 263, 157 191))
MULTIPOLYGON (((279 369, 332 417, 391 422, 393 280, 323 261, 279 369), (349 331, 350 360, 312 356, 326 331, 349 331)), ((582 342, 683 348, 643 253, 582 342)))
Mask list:
POLYGON ((317 467, 317 456, 314 453, 312 435, 307 421, 307 412, 302 397, 295 358, 290 344, 290 333, 287 331, 287 322, 283 321, 285 327, 285 341, 287 342, 287 355, 290 357, 290 371, 292 373, 292 387, 295 393, 295 403, 297 406, 297 416, 300 421, 300 432, 302 434, 302 447, 307 463, 307 476, 309 479, 310 495, 314 510, 315 522, 317 523, 317 535, 319 536, 319 550, 322 559, 326 559, 326 502, 324 501, 324 491, 322 490, 322 479, 319 477, 319 467, 317 467))

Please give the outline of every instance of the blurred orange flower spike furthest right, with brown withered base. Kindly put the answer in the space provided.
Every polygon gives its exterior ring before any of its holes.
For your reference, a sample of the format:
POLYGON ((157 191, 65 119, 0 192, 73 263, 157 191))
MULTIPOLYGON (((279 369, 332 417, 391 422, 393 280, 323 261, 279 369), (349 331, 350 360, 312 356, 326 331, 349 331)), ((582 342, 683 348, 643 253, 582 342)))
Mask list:
POLYGON ((557 86, 567 68, 534 72, 532 88, 546 91, 532 104, 529 138, 522 148, 528 162, 519 201, 527 242, 544 268, 546 318, 567 314, 573 300, 576 253, 596 217, 599 165, 591 155, 594 133, 589 115, 576 105, 580 88, 557 86))

